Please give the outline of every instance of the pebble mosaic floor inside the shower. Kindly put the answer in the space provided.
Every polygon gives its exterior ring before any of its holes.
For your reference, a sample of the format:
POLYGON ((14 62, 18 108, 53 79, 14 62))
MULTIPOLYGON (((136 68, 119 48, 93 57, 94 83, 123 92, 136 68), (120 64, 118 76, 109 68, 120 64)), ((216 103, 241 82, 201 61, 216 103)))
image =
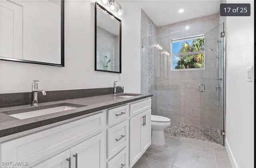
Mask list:
POLYGON ((216 142, 218 144, 223 143, 220 131, 217 128, 207 128, 204 126, 172 123, 166 129, 164 129, 164 134, 178 137, 182 136, 187 138, 195 138, 209 142, 216 142))

